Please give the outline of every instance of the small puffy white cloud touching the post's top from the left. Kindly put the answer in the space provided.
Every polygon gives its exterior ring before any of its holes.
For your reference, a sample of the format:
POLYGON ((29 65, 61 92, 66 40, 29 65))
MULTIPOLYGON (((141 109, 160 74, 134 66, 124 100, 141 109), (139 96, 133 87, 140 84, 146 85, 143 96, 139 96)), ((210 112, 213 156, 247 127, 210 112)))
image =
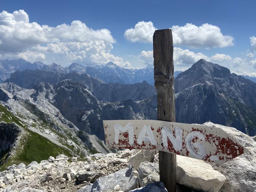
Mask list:
POLYGON ((151 21, 138 22, 134 28, 125 30, 125 38, 131 42, 152 43, 153 34, 157 30, 151 21))

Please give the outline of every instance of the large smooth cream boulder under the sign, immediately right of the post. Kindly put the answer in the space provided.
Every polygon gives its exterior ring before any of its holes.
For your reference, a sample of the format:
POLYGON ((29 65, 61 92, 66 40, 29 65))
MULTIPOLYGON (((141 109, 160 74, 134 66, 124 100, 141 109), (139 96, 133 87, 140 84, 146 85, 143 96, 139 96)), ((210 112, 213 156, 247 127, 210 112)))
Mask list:
POLYGON ((226 178, 202 160, 177 155, 177 183, 207 192, 217 192, 226 178))

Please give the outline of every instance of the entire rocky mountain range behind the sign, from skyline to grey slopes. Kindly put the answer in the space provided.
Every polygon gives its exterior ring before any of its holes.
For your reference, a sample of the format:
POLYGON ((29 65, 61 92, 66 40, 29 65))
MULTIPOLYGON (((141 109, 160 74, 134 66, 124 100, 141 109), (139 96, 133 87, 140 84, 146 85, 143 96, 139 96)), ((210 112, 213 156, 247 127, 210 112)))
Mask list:
MULTIPOLYGON (((18 118, 25 131, 37 133, 70 153, 110 152, 102 142, 102 120, 157 119, 152 68, 123 69, 112 62, 106 66, 61 67, 11 61, 30 68, 8 66, 4 61, 6 76, 1 76, 0 106, 12 118, 18 118), (147 78, 151 83, 145 81, 147 78)), ((253 136, 256 83, 200 59, 175 78, 175 112, 176 122, 212 121, 253 136)), ((10 121, 1 116, 0 120, 10 121)), ((10 153, 6 151, 8 147, 0 151, 2 162, 10 153)))

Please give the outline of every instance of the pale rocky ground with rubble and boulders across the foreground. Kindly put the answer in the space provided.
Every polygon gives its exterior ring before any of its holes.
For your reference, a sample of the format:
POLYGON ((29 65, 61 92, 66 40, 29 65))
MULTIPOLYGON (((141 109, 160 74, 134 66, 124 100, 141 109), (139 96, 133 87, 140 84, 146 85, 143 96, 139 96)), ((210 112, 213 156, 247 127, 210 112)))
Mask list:
MULTIPOLYGON (((221 127, 248 152, 223 165, 177 155, 177 192, 256 192, 256 142, 235 128, 206 125, 221 127)), ((85 158, 58 155, 27 166, 9 166, 0 172, 0 191, 166 192, 158 166, 158 153, 153 150, 125 149, 85 158)))

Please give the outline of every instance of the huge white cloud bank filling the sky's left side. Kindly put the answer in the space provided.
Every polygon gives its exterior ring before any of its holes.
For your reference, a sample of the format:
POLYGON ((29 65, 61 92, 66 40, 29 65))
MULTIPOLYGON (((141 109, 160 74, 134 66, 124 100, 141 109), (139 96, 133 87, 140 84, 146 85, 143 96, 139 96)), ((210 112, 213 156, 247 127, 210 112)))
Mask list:
POLYGON ((111 54, 115 42, 110 30, 94 30, 82 21, 50 27, 30 22, 24 10, 0 13, 0 59, 38 59, 64 65, 113 61, 129 67, 129 62, 111 54))

